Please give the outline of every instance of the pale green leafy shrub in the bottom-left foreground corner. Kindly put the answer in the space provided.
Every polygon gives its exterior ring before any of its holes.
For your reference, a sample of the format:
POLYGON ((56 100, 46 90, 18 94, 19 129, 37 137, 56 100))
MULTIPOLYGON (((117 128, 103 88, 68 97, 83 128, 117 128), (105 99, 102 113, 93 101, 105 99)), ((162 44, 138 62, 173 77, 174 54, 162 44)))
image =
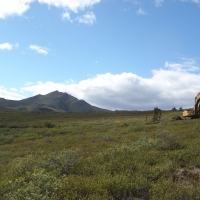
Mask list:
POLYGON ((26 173, 25 177, 20 177, 14 181, 5 183, 7 190, 2 199, 58 199, 61 180, 53 174, 46 173, 43 169, 37 169, 33 173, 26 173))

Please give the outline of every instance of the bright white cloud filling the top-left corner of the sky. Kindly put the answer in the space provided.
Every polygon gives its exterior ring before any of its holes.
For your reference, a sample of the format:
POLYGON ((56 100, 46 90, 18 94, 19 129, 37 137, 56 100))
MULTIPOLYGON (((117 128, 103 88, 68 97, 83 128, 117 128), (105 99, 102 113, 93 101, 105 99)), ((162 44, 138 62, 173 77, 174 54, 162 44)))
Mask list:
POLYGON ((22 15, 29 9, 29 4, 34 0, 1 0, 0 18, 6 18, 9 15, 22 15))

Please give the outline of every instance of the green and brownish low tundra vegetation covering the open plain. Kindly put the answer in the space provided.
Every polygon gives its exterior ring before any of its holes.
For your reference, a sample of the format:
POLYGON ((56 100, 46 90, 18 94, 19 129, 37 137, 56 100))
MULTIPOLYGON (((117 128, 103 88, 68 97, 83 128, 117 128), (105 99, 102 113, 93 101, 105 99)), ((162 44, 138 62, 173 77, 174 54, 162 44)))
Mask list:
POLYGON ((199 199, 200 120, 153 116, 0 108, 1 199, 199 199))

